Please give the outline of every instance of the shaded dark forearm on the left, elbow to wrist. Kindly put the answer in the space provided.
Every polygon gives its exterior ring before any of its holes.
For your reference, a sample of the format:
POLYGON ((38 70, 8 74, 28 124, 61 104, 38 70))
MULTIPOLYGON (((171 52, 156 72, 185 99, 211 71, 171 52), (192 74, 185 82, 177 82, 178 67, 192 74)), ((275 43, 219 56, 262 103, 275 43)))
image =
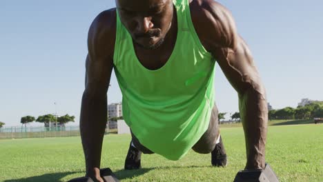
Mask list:
POLYGON ((95 168, 100 168, 106 121, 106 95, 99 97, 84 92, 81 103, 80 130, 86 160, 86 176, 92 175, 95 168))

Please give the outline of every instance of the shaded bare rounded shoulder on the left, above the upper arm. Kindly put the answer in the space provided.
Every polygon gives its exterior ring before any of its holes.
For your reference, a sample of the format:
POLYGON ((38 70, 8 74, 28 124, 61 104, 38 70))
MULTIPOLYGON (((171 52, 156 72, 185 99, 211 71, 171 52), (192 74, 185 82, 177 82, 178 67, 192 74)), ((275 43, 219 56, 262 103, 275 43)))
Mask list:
POLYGON ((115 8, 97 15, 88 30, 88 54, 95 59, 113 57, 117 29, 115 8))

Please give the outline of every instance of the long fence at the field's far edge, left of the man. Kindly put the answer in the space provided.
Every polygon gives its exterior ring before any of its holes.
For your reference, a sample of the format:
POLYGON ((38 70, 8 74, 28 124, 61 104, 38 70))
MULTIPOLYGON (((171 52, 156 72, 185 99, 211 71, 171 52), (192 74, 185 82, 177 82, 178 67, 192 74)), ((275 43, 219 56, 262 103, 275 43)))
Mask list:
MULTIPOLYGON (((109 130, 106 130, 108 133, 109 130)), ((23 139, 23 138, 44 138, 79 136, 79 126, 67 127, 10 127, 0 128, 0 139, 23 139)))

